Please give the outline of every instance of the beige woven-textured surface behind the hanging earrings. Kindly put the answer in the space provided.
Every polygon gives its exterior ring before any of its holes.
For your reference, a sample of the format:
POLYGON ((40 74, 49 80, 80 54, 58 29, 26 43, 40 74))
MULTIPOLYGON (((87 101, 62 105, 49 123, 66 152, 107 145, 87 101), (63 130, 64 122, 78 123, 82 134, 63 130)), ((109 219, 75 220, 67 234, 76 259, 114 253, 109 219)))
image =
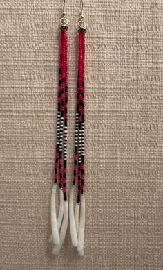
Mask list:
MULTIPOLYGON (((77 19, 68 0, 68 186, 77 19)), ((62 1, 0 1, 0 269, 161 270, 162 0, 85 0, 86 239, 51 254, 62 1)))

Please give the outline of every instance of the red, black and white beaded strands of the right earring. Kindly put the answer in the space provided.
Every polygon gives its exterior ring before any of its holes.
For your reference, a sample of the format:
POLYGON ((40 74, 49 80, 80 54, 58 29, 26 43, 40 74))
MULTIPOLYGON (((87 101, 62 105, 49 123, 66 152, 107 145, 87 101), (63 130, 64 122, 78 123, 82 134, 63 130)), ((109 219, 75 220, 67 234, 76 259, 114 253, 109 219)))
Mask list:
POLYGON ((73 187, 77 180, 77 203, 84 189, 84 56, 85 32, 79 31, 79 56, 78 56, 78 80, 77 80, 77 108, 75 124, 75 153, 73 187))

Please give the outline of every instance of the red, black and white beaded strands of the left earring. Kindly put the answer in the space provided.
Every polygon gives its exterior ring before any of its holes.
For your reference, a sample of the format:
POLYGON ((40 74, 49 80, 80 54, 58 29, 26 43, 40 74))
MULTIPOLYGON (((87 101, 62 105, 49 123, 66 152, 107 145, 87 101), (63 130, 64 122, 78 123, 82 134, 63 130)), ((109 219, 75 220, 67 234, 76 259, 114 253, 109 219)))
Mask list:
POLYGON ((60 57, 59 57, 59 88, 57 110, 57 146, 55 153, 54 183, 63 187, 66 201, 66 167, 67 167, 67 127, 68 127, 68 63, 67 63, 67 27, 61 27, 60 57), (63 158, 64 146, 64 158, 63 158), (59 171, 58 171, 59 167, 59 171))

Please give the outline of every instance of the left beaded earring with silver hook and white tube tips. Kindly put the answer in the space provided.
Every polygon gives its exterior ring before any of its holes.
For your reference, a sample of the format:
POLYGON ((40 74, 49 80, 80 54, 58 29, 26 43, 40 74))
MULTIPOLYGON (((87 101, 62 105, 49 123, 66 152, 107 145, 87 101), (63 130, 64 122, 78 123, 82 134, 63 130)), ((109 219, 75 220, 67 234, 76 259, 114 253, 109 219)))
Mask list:
POLYGON ((68 202, 66 196, 66 167, 67 167, 67 127, 68 127, 68 60, 67 60, 67 30, 65 0, 60 19, 60 52, 59 52, 59 87, 57 108, 57 144, 55 152, 54 185, 51 194, 51 227, 52 234, 49 242, 55 244, 52 254, 57 255, 61 249, 68 226, 68 202), (64 151, 63 151, 64 146, 64 151), (64 153, 63 153, 64 152, 64 153), (60 189, 59 214, 56 216, 55 197, 57 183, 60 189), (60 234, 59 234, 60 230, 60 234))

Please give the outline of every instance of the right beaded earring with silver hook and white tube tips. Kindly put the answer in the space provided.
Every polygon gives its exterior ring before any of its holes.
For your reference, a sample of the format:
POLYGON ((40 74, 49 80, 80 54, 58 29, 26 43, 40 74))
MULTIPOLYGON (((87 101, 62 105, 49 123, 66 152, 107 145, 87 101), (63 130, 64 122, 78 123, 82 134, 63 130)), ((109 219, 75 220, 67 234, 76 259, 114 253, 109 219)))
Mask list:
POLYGON ((72 245, 77 247, 79 255, 84 255, 84 228, 85 228, 85 199, 84 199, 84 120, 85 120, 85 89, 84 89, 84 62, 85 62, 85 33, 86 27, 83 15, 83 1, 81 16, 78 22, 78 79, 77 79, 77 106, 75 118, 75 152, 73 186, 70 190, 69 219, 72 245), (73 207, 73 192, 77 182, 77 203, 73 207), (79 214, 80 212, 80 214, 79 214))

